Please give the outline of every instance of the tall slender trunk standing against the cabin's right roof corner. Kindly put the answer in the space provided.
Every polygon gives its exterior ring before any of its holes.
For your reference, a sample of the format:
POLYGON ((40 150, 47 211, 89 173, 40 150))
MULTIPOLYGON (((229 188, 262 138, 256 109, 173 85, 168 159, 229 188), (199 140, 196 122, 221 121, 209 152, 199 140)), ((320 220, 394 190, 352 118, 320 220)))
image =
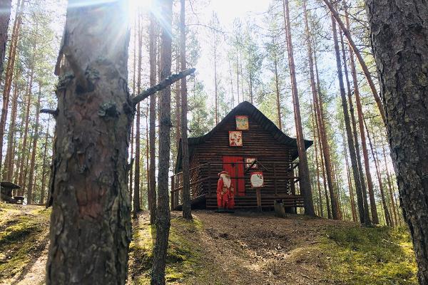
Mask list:
POLYGON ((312 202, 312 190, 310 187, 309 168, 307 167, 307 154, 305 140, 303 139, 302 118, 300 115, 299 95, 297 94, 297 80, 295 74, 295 61, 292 50, 292 38, 290 27, 290 9, 288 0, 282 1, 285 19, 285 29, 287 30, 287 51, 288 61, 290 63, 290 77, 292 90, 292 103, 295 110, 295 123, 297 133, 297 151, 299 152, 299 176, 300 176, 300 191, 305 199, 305 214, 315 216, 314 204, 312 202))

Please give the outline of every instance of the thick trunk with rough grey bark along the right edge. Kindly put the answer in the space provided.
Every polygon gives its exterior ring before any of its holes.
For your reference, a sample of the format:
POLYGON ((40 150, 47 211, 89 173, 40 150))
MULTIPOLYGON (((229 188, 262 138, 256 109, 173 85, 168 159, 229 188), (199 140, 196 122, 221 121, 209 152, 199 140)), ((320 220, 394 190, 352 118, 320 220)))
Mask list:
POLYGON ((428 284, 428 6, 422 0, 366 0, 404 217, 428 284))

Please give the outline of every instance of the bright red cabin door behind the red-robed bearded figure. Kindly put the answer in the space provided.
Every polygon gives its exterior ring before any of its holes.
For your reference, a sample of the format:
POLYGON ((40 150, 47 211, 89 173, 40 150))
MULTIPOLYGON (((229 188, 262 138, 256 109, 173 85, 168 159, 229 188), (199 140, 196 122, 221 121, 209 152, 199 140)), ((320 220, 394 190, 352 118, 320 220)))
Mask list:
POLYGON ((244 158, 242 156, 223 156, 223 170, 229 172, 232 185, 238 196, 245 195, 244 158))

